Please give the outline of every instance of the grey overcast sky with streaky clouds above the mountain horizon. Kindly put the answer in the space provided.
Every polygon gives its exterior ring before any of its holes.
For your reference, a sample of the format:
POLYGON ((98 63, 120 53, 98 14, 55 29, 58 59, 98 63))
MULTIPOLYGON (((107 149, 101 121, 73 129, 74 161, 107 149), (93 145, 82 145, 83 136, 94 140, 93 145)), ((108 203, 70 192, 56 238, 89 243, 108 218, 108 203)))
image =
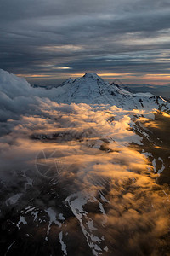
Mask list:
POLYGON ((0 24, 0 68, 32 83, 169 83, 169 0, 0 0, 0 24))

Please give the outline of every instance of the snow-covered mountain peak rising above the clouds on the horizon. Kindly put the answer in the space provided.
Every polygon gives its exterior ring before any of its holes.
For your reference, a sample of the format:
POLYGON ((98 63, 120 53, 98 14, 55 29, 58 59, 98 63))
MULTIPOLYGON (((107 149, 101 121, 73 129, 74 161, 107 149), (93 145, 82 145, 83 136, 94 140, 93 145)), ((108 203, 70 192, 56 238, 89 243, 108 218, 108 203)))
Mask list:
POLYGON ((96 73, 86 73, 81 78, 67 79, 59 87, 53 89, 55 102, 71 104, 109 104, 126 109, 160 109, 167 110, 170 104, 161 96, 150 93, 132 93, 127 87, 115 83, 109 84, 96 73))

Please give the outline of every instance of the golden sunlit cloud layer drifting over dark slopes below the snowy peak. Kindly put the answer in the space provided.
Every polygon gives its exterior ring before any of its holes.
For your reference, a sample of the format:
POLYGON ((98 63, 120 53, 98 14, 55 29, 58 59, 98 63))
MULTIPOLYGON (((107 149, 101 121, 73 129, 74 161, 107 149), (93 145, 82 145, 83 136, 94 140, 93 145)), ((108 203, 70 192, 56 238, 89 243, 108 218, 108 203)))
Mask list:
MULTIPOLYGON (((105 236, 105 243, 108 245, 112 240, 119 245, 123 239, 127 242, 127 252, 135 251, 136 245, 139 247, 138 252, 141 251, 140 241, 144 237, 147 241, 150 241, 150 237, 151 241, 157 241, 160 236, 167 235, 167 197, 163 195, 161 186, 156 184, 156 176, 150 172, 149 160, 130 147, 132 142, 143 146, 142 137, 129 128, 132 125, 132 115, 143 115, 144 109, 126 110, 105 105, 94 110, 84 103, 59 104, 49 99, 39 99, 38 104, 36 113, 34 109, 29 115, 23 114, 20 120, 8 121, 13 128, 0 140, 0 164, 3 170, 0 176, 12 179, 16 184, 14 178, 19 178, 19 183, 20 177, 26 177, 25 170, 31 170, 34 180, 33 189, 29 187, 30 202, 30 198, 35 195, 31 195, 35 193, 35 184, 37 186, 38 183, 42 189, 44 180, 48 178, 46 173, 50 170, 53 180, 57 182, 53 188, 58 189, 58 183, 59 188, 65 188, 65 197, 62 197, 65 200, 62 201, 66 201, 66 207, 71 207, 73 212, 69 218, 70 224, 75 223, 74 216, 77 217, 76 221, 83 227, 89 241, 92 235, 94 237, 93 230, 90 230, 90 236, 87 235, 89 221, 99 229, 95 233, 96 237, 100 234, 105 236), (110 122, 108 119, 111 117, 114 119, 110 122), (49 157, 46 158, 46 155, 49 157), (61 167, 59 170, 58 166, 61 167), (20 177, 11 177, 13 168, 20 173, 20 177), (44 168, 45 172, 42 172, 44 168), (157 194, 156 189, 153 191, 152 187, 156 185, 161 195, 157 194), (84 203, 87 198, 90 205, 86 201, 84 203), (77 201, 78 204, 75 203, 77 201), (89 210, 88 214, 89 206, 95 211, 89 210), (96 206, 100 211, 96 211, 96 206), (83 221, 79 216, 83 217, 83 221), (103 221, 105 226, 101 225, 103 221), (108 232, 105 233, 105 229, 108 232), (127 240, 129 232, 134 245, 127 240), (139 241, 135 241, 136 235, 139 241)), ((143 116, 140 120, 149 123, 149 119, 143 116)), ((10 195, 14 193, 13 187, 11 186, 10 195)), ((39 187, 36 193, 39 193, 39 187)), ((21 189, 20 191, 22 192, 21 189)), ((25 206, 22 203, 20 201, 20 208, 23 209, 25 206)), ((43 201, 40 203, 42 206, 43 201)), ((45 209, 48 208, 48 205, 44 206, 45 209)), ((54 201, 52 207, 57 206, 54 201)), ((62 223, 60 227, 56 225, 56 232, 63 230, 63 226, 62 223)), ((34 226, 34 229, 37 227, 34 226)), ((49 231, 48 237, 51 238, 49 231)), ((94 244, 101 246, 97 239, 94 244)))

